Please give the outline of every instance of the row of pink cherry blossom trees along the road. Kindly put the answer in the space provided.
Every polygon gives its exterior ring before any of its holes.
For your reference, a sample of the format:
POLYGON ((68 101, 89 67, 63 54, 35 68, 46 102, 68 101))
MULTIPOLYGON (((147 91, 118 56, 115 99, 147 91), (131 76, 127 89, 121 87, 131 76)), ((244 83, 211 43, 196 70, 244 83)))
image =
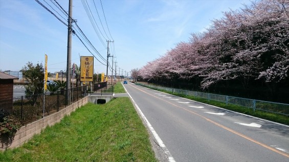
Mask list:
POLYGON ((276 85, 288 80, 288 0, 260 0, 240 10, 224 12, 203 33, 193 33, 141 68, 145 80, 194 79, 205 89, 234 80, 276 85))

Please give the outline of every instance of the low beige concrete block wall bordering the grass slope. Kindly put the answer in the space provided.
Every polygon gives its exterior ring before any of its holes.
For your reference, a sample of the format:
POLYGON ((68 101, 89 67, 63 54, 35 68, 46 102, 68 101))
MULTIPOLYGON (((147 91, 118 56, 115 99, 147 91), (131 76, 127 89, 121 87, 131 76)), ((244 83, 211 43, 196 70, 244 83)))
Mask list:
MULTIPOLYGON (((26 126, 21 127, 15 134, 13 142, 7 143, 7 141, 1 141, 1 150, 4 151, 5 148, 16 148, 24 143, 26 143, 34 134, 39 134, 42 129, 47 126, 52 126, 55 123, 60 122, 64 115, 69 115, 71 112, 75 111, 77 108, 88 103, 88 96, 82 98, 81 100, 69 105, 58 112, 55 112, 43 119, 30 123, 26 126)), ((1 140, 1 139, 0 139, 1 140)))

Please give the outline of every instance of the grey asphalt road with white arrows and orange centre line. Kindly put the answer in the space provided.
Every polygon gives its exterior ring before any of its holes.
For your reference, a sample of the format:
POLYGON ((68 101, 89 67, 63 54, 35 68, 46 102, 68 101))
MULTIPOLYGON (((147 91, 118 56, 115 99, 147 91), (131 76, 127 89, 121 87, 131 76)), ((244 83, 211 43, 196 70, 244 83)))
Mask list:
POLYGON ((169 161, 289 161, 289 127, 124 84, 169 161))

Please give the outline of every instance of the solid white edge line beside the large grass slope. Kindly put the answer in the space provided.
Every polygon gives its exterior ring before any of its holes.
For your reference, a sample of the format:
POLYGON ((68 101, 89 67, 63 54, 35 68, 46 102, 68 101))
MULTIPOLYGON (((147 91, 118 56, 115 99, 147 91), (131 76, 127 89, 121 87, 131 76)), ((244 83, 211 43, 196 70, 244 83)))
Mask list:
POLYGON ((151 131, 151 133, 153 134, 153 136, 155 137, 155 139, 158 141, 160 147, 162 148, 162 150, 164 151, 165 155, 167 156, 168 160, 170 162, 175 162, 174 158, 172 157, 171 153, 169 152, 169 150, 167 149, 166 145, 164 144, 164 142, 161 140, 160 136, 158 135, 158 133, 153 129, 153 127, 150 125, 149 121, 146 119, 145 115, 143 114, 142 110, 139 108, 139 106, 137 105, 137 103, 135 102, 134 99, 132 99, 132 97, 130 96, 130 94, 128 93, 128 91, 126 90, 126 88, 123 86, 123 88, 125 89, 125 91, 127 92, 128 96, 130 97, 131 101, 135 104, 135 106, 137 107, 139 113, 141 114, 142 118, 144 119, 144 121, 146 122, 149 130, 151 131))

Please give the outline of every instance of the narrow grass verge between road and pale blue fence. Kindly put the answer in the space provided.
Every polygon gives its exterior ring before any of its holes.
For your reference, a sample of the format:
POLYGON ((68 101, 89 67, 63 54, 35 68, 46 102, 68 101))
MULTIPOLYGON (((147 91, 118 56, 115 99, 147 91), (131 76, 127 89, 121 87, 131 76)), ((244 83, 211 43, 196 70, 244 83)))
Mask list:
MULTIPOLYGON (((148 88, 150 88, 150 87, 148 87, 148 88)), ((155 89, 155 88, 151 88, 151 89, 155 89)), ((212 101, 212 100, 208 101, 207 99, 193 97, 193 96, 186 96, 183 94, 172 94, 171 91, 166 91, 166 90, 162 90, 162 89, 155 89, 155 90, 163 91, 163 92, 166 92, 167 94, 171 94, 174 96, 179 96, 179 97, 183 97, 186 99, 190 99, 190 100, 206 103, 209 105, 225 108, 227 110, 232 110, 232 111, 240 112, 243 114, 248 114, 248 115, 251 115, 253 117, 269 120, 272 122, 277 122, 277 123, 289 125, 289 117, 287 117, 285 115, 270 113, 270 112, 261 111, 261 110, 255 110, 254 111, 253 109, 248 108, 248 107, 243 107, 243 106, 238 106, 238 105, 233 105, 233 104, 227 105, 226 103, 223 103, 223 102, 212 101)))

